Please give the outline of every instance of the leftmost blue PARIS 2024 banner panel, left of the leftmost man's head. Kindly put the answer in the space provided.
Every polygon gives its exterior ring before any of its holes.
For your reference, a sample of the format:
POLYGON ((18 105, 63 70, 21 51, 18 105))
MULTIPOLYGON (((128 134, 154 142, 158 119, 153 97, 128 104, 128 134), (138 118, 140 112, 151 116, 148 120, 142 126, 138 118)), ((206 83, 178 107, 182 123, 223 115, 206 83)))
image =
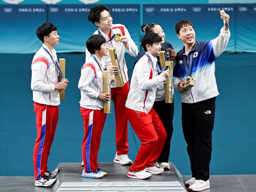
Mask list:
POLYGON ((36 52, 42 45, 36 37, 36 29, 46 17, 46 5, 1 5, 0 53, 36 52))

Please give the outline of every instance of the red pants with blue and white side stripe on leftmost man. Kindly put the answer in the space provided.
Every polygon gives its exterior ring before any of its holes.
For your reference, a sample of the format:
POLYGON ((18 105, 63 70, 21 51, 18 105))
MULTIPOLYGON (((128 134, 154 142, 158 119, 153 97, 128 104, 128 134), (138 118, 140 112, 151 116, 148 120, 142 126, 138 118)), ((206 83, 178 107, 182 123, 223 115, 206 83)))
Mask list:
POLYGON ((59 106, 50 106, 34 102, 36 113, 37 138, 34 146, 35 180, 40 180, 47 171, 50 147, 56 131, 59 106))

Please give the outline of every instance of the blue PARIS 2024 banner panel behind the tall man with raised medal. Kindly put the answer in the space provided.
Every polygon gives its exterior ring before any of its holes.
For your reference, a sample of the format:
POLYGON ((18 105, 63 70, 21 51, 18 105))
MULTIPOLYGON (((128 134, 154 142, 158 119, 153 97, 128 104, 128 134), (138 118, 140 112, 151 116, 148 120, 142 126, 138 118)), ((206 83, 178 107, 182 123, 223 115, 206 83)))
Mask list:
MULTIPOLYGON (((98 28, 88 21, 90 8, 95 5, 49 5, 48 20, 57 26, 60 43, 58 52, 85 52, 86 40, 98 28)), ((113 24, 123 24, 137 46, 140 44, 140 6, 108 5, 113 24)))

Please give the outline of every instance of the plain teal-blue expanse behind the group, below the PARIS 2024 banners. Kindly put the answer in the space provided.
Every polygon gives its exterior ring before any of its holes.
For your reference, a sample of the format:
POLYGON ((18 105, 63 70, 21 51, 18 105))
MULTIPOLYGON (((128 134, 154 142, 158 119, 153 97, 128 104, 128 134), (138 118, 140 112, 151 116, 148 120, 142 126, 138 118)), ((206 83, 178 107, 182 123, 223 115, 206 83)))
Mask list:
MULTIPOLYGON (((36 140, 35 114, 30 89, 33 55, 2 54, 0 113, 0 176, 32 176, 36 140)), ((69 86, 60 105, 59 123, 48 161, 49 170, 59 162, 81 162, 83 123, 77 88, 84 54, 59 54, 66 59, 69 86)), ((125 55, 129 75, 134 58, 125 55)), ((220 95, 216 101, 211 175, 256 174, 256 54, 222 54, 215 75, 220 95)), ((169 161, 183 175, 190 175, 189 158, 181 129, 181 95, 174 94, 174 134, 169 161)), ((129 157, 134 160, 140 141, 129 125, 129 157)), ((114 111, 103 130, 99 162, 112 162, 116 153, 114 111)))

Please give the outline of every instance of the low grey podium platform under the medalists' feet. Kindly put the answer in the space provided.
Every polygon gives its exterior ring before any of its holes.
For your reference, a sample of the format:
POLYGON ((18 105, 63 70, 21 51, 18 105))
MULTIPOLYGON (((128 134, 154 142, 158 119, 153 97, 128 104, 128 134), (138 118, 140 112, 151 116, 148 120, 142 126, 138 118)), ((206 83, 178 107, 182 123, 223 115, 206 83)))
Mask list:
POLYGON ((84 178, 80 163, 60 163, 60 172, 52 192, 187 192, 183 176, 170 162, 170 170, 148 179, 132 179, 127 176, 130 166, 116 163, 99 163, 99 168, 108 173, 102 179, 84 178))

